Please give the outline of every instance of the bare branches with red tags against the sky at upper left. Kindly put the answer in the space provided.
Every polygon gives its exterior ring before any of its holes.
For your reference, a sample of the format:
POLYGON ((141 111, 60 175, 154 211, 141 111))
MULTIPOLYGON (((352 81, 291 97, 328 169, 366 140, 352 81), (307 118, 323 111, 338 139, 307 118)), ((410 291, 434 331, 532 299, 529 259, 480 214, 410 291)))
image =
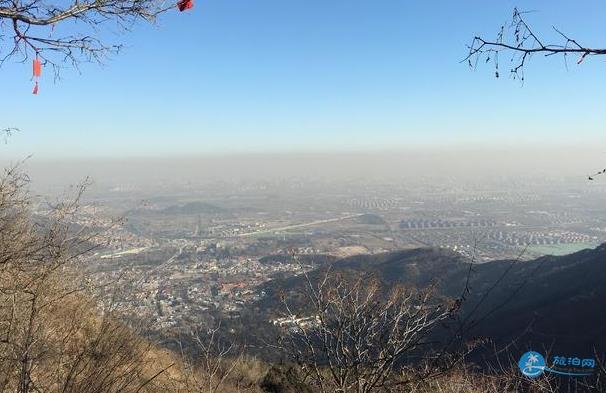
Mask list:
POLYGON ((0 64, 37 56, 57 73, 65 62, 103 62, 121 48, 104 38, 174 8, 171 0, 0 0, 0 64))

